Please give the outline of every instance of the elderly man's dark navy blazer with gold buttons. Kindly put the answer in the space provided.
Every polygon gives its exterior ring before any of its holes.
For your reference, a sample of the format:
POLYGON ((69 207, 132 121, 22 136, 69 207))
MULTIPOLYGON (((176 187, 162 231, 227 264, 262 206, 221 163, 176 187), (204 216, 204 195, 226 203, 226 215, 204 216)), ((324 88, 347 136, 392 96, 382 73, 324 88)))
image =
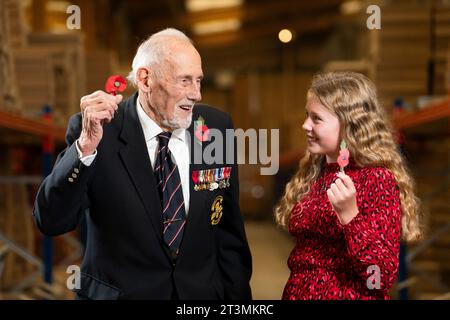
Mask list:
MULTIPOLYGON (((78 297, 171 299, 176 288, 180 299, 251 299, 252 261, 239 208, 236 152, 231 163, 212 164, 195 164, 192 152, 211 143, 195 140, 194 121, 199 116, 224 137, 225 130, 233 128, 231 118, 206 105, 193 109, 190 172, 229 166, 231 178, 228 187, 213 191, 195 191, 190 178, 189 213, 174 264, 162 238, 161 201, 136 99, 137 93, 120 103, 113 121, 104 125, 98 154, 89 167, 79 160, 74 143, 81 132, 81 115, 72 116, 67 147, 36 196, 33 216, 46 235, 72 231, 86 216, 78 297), (220 197, 222 217, 216 224, 212 205, 220 197)), ((225 139, 224 152, 232 142, 225 139)))

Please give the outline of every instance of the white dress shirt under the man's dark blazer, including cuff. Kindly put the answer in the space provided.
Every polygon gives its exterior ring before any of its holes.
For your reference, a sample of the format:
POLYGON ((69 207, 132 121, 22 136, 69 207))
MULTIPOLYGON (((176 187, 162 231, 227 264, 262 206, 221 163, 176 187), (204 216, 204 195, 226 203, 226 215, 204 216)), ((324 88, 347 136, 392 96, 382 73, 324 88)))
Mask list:
MULTIPOLYGON (((155 167, 156 152, 158 151, 158 134, 163 132, 163 130, 153 121, 142 108, 139 97, 136 100, 137 114, 139 117, 139 122, 141 123, 142 130, 144 131, 145 143, 147 145, 148 155, 150 156, 150 161, 152 168, 155 167)), ((169 150, 178 165, 178 172, 180 173, 181 187, 183 189, 184 197, 184 207, 186 209, 186 214, 189 211, 189 146, 188 139, 186 137, 186 129, 177 129, 172 132, 172 136, 169 140, 169 150)), ((78 140, 75 144, 80 161, 85 166, 90 166, 94 161, 97 150, 94 154, 81 157, 81 151, 78 147, 78 140)))

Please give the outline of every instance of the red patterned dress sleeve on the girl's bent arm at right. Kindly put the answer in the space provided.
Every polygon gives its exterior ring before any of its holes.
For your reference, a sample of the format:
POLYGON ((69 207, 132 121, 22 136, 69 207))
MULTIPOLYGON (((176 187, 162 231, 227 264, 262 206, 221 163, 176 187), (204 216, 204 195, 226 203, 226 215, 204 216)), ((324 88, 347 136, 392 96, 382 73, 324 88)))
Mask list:
POLYGON ((400 250, 401 206, 394 176, 374 168, 360 189, 359 213, 343 226, 350 267, 363 279, 380 272, 380 289, 396 280, 400 250))

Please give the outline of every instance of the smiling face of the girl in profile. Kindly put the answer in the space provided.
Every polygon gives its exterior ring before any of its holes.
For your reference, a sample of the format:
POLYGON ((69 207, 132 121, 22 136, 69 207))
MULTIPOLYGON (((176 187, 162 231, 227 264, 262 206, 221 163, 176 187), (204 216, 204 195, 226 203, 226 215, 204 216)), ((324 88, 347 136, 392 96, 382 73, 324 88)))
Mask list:
POLYGON ((338 118, 310 93, 305 109, 307 118, 302 128, 306 132, 308 151, 312 154, 325 155, 328 163, 336 162, 340 145, 338 118))

